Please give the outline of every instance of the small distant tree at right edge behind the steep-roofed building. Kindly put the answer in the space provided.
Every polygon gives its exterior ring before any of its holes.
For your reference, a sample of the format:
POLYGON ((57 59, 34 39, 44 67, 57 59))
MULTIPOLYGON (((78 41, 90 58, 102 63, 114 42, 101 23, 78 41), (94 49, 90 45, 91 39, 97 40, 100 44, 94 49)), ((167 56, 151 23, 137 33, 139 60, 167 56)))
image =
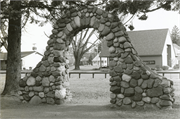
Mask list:
POLYGON ((176 25, 172 29, 171 39, 173 43, 180 46, 180 31, 176 25))

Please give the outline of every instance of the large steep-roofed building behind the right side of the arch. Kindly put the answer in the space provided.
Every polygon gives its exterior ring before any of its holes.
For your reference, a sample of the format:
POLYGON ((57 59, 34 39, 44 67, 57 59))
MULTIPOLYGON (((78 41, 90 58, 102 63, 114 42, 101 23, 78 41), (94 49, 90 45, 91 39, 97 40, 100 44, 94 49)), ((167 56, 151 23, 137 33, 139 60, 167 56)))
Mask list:
MULTIPOLYGON (((168 29, 129 31, 127 33, 138 55, 150 68, 156 66, 173 67, 178 63, 168 29)), ((106 44, 104 40, 100 57, 106 57, 108 65, 111 59, 106 44)))

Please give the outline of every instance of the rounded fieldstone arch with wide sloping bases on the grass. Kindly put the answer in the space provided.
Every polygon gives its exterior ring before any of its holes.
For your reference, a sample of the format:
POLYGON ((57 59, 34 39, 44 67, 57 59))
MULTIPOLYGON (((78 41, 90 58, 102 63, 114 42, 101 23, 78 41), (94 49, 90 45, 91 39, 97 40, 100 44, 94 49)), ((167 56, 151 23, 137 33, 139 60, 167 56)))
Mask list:
POLYGON ((67 10, 53 26, 44 57, 20 80, 20 98, 32 104, 61 104, 71 99, 65 52, 71 39, 85 28, 98 30, 110 56, 110 103, 117 107, 167 108, 174 103, 171 80, 145 66, 116 16, 87 6, 67 10))

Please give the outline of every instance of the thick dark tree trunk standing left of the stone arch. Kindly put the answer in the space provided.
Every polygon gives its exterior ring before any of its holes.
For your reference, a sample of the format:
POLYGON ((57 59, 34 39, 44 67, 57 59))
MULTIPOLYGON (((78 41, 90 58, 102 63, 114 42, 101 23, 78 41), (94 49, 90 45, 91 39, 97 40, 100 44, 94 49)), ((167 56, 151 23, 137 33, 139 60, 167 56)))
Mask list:
POLYGON ((21 1, 10 1, 12 7, 8 28, 6 83, 2 95, 17 92, 21 78, 21 1))

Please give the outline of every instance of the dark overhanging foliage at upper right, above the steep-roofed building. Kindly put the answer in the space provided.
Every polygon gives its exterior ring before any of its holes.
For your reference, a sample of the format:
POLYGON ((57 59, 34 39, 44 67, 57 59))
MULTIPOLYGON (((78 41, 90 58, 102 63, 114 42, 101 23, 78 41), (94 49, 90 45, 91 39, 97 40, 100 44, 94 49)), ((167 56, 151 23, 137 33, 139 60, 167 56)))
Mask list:
MULTIPOLYGON (((106 3, 105 9, 115 15, 119 15, 121 21, 123 21, 127 15, 132 15, 131 18, 124 23, 126 24, 135 16, 137 16, 139 20, 146 20, 148 18, 147 13, 161 8, 167 11, 180 11, 179 6, 180 2, 177 0, 110 0, 106 3)), ((132 22, 127 26, 130 30, 134 29, 132 22)))

